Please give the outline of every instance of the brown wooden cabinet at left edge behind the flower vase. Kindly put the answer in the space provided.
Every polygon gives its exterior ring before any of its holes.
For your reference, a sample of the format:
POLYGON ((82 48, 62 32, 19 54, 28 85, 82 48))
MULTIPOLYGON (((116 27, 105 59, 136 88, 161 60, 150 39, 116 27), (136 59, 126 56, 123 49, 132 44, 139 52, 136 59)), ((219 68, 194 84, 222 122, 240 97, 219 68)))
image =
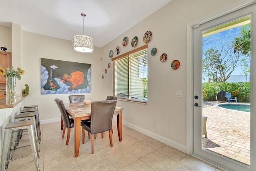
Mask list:
MULTIPOLYGON (((0 66, 4 69, 10 68, 12 65, 12 53, 0 51, 0 66)), ((0 85, 6 84, 6 78, 4 75, 0 75, 0 85)))

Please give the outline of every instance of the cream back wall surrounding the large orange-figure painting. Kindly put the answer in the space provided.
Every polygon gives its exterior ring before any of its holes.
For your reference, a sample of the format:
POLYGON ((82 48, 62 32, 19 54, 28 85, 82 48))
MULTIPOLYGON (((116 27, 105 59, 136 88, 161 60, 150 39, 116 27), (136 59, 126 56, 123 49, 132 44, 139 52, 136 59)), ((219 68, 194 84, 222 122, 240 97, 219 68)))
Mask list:
POLYGON ((55 98, 69 102, 68 95, 71 94, 41 95, 40 58, 92 64, 92 93, 84 95, 86 99, 99 100, 102 91, 100 54, 100 48, 95 48, 92 54, 83 54, 72 50, 71 41, 22 32, 22 69, 25 70, 21 80, 22 89, 25 88, 24 84, 28 84, 31 93, 22 105, 38 105, 41 123, 46 123, 60 119, 55 98))

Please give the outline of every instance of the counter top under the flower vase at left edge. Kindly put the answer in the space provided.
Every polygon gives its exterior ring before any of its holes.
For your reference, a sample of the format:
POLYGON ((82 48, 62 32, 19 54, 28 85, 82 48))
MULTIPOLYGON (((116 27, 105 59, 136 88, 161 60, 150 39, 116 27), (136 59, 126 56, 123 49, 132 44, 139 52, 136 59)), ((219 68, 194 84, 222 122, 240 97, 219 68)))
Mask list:
POLYGON ((28 97, 29 94, 18 94, 14 98, 1 98, 0 109, 13 108, 28 97))

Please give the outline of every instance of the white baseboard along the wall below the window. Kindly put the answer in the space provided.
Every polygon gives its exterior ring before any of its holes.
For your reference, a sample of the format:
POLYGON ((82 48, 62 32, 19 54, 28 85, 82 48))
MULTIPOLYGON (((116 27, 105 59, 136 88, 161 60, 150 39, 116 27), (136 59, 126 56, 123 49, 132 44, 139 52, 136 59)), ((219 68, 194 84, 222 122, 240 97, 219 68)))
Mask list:
MULTIPOLYGON (((117 117, 114 116, 113 120, 117 121, 117 117)), ((146 129, 138 127, 137 125, 134 125, 134 124, 129 123, 129 122, 124 121, 124 120, 123 120, 123 125, 126 125, 126 126, 132 128, 132 129, 140 132, 140 133, 143 133, 143 134, 145 134, 145 135, 147 135, 147 136, 149 136, 151 138, 154 138, 154 139, 156 139, 156 140, 158 140, 158 141, 160 141, 160 142, 162 142, 162 143, 164 143, 166 145, 169 145, 170 147, 178 149, 178 150, 182 151, 183 153, 186 153, 186 146, 184 146, 182 144, 176 143, 175 141, 167 139, 166 137, 162 137, 161 135, 157 135, 156 133, 153 133, 151 131, 148 131, 146 129)))

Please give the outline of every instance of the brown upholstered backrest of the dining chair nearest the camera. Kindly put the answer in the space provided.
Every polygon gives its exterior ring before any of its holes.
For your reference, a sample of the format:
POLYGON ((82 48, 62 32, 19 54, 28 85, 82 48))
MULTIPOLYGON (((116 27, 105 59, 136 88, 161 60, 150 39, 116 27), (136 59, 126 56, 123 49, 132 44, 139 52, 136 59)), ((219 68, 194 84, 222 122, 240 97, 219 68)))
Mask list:
POLYGON ((111 129, 116 102, 116 100, 92 101, 92 134, 101 133, 111 129))

